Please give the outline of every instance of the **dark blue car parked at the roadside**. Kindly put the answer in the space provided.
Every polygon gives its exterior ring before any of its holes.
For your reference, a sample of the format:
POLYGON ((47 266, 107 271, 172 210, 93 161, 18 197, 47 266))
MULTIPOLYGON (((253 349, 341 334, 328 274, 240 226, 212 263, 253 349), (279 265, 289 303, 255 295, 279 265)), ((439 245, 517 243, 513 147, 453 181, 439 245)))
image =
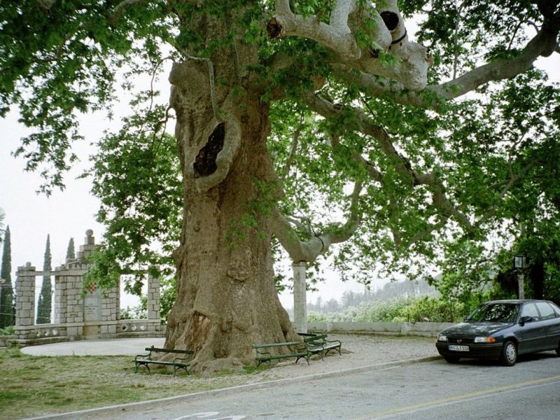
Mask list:
POLYGON ((519 354, 556 350, 560 356, 560 307, 548 300, 493 300, 437 335, 449 363, 460 358, 498 359, 513 366, 519 354))

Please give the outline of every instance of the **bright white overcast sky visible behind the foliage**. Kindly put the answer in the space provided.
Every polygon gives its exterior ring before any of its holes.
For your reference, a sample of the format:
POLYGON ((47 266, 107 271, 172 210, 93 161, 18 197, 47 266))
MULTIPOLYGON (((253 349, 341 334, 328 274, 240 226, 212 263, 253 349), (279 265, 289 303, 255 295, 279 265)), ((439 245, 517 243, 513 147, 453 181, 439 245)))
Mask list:
MULTIPOLYGON (((560 80, 560 55, 541 59, 539 66, 547 69, 554 80, 560 80)), ((165 74, 168 73, 166 70, 165 74)), ((149 83, 149 82, 148 82, 149 83)), ((165 77, 162 80, 162 94, 167 96, 169 87, 165 77)), ((146 89, 149 85, 142 86, 146 89)), ((123 105, 127 101, 122 102, 123 105)), ((127 106, 125 106, 127 108, 127 106)), ((115 109, 119 113, 119 109, 115 109)), ((128 110, 121 110, 126 113, 128 110)), ((99 206, 97 198, 90 195, 91 183, 87 179, 76 179, 83 169, 89 166, 88 155, 94 153, 90 142, 102 136, 104 130, 112 127, 116 130, 118 119, 109 122, 102 114, 85 116, 80 119, 86 141, 76 144, 74 152, 80 162, 69 174, 66 174, 66 189, 55 190, 51 197, 37 195, 35 191, 41 185, 38 174, 24 171, 22 158, 13 158, 11 153, 20 146, 20 138, 27 133, 26 128, 18 123, 18 114, 11 112, 0 120, 0 208, 6 214, 4 224, 10 226, 12 281, 15 281, 17 267, 31 262, 38 270, 43 267, 43 255, 47 235, 50 235, 52 267, 64 263, 69 239, 74 238, 76 251, 83 244, 85 230, 92 229, 97 241, 102 238, 104 227, 94 221, 94 214, 99 206)), ((1 254, 0 254, 1 255, 1 254)), ((40 283, 40 281, 37 281, 40 283)), ((383 281, 377 281, 380 286, 383 281)), ((323 302, 331 298, 338 299, 345 290, 361 292, 364 286, 358 283, 342 283, 334 274, 325 283, 317 286, 319 291, 308 293, 307 300, 315 301, 321 296, 323 302)), ((293 307, 293 297, 289 292, 281 295, 285 307, 293 307)), ((129 301, 124 300, 124 306, 129 301)), ((130 301, 132 302, 132 301, 130 301)))

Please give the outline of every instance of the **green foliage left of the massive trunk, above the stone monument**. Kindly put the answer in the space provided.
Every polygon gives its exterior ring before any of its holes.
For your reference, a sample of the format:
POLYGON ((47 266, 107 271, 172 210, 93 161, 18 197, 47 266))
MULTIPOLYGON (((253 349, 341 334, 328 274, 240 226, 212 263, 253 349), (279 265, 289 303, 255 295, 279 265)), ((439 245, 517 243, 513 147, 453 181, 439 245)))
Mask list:
POLYGON ((125 118, 120 132, 99 141, 92 193, 102 202, 97 220, 107 229, 88 283, 111 287, 121 274, 136 273, 127 277, 127 290, 140 294, 148 270, 158 277, 172 275, 182 215, 181 170, 162 116, 165 108, 154 106, 125 118))

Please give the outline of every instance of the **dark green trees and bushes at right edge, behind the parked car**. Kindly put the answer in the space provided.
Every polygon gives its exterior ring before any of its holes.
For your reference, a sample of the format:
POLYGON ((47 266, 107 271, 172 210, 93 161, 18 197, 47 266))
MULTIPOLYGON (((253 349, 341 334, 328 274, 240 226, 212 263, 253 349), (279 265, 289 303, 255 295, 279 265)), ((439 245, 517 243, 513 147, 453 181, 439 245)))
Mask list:
POLYGON ((480 107, 470 111, 469 127, 479 134, 470 142, 461 141, 457 150, 462 152, 466 146, 477 151, 478 162, 488 162, 479 168, 465 162, 469 176, 454 179, 454 185, 463 189, 462 197, 468 195, 473 208, 492 218, 476 236, 455 235, 444 244, 442 279, 434 283, 442 294, 471 302, 470 307, 489 298, 517 297, 512 259, 519 253, 528 257, 530 265, 525 273, 526 297, 560 300, 555 275, 560 267, 556 229, 560 92, 545 79, 532 70, 508 80, 504 90, 492 92, 491 101, 482 108, 484 118, 475 122, 480 107), (510 156, 507 163, 506 156, 510 156), (507 173, 519 174, 519 179, 507 186, 500 181, 507 173), (486 189, 489 180, 500 189, 486 189), (505 187, 509 187, 507 194, 505 187))

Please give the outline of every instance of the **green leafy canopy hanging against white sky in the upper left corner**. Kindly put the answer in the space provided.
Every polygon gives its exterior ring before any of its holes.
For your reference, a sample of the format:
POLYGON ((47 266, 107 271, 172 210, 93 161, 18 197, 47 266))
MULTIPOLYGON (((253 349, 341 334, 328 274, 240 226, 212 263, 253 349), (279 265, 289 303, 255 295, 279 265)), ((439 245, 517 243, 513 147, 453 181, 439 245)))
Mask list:
POLYGON ((43 168, 45 193, 64 186, 62 174, 76 160, 78 114, 106 109, 118 69, 158 62, 156 45, 170 38, 165 1, 112 13, 113 5, 96 0, 0 6, 0 116, 17 104, 34 129, 15 154, 26 169, 43 168))

